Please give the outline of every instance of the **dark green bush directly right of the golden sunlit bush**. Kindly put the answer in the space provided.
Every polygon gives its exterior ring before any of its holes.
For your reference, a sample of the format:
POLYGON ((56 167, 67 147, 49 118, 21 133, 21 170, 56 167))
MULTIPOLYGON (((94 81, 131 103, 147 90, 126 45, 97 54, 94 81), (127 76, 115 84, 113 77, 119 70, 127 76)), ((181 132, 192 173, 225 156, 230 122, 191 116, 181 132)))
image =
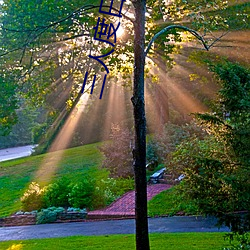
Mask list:
POLYGON ((66 178, 61 178, 58 181, 48 185, 44 192, 45 207, 68 207, 69 193, 71 191, 70 181, 66 178))

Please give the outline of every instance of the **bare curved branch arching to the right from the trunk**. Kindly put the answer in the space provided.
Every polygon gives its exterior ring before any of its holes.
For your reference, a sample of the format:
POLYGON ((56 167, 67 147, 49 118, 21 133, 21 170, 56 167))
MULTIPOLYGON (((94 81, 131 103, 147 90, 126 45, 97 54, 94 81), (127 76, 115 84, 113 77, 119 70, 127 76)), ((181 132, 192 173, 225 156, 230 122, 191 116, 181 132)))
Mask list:
POLYGON ((147 56, 147 54, 148 54, 148 52, 149 52, 152 44, 155 42, 155 40, 160 35, 164 34, 165 32, 167 32, 167 31, 169 31, 171 29, 181 29, 181 30, 184 30, 184 31, 188 31, 193 36, 195 36, 199 41, 201 41, 201 43, 203 44, 203 46, 205 47, 206 50, 209 50, 210 47, 214 44, 213 43, 212 45, 208 46, 207 43, 206 43, 206 41, 204 40, 204 38, 197 31, 195 31, 193 29, 190 29, 190 28, 188 28, 186 26, 182 26, 182 25, 170 25, 170 26, 165 27, 164 29, 162 29, 161 31, 159 31, 157 34, 155 34, 153 36, 153 38, 151 39, 151 41, 149 42, 149 44, 148 44, 148 46, 147 46, 147 48, 145 50, 145 56, 147 56))

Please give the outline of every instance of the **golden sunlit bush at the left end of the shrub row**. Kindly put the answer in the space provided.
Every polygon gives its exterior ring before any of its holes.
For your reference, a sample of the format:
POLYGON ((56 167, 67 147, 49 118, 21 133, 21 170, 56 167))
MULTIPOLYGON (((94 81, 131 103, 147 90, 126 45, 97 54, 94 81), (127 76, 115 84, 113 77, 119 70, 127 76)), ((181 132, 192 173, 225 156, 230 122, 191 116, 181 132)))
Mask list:
POLYGON ((21 197, 22 209, 24 211, 39 210, 43 207, 44 189, 38 183, 32 182, 28 190, 21 197))

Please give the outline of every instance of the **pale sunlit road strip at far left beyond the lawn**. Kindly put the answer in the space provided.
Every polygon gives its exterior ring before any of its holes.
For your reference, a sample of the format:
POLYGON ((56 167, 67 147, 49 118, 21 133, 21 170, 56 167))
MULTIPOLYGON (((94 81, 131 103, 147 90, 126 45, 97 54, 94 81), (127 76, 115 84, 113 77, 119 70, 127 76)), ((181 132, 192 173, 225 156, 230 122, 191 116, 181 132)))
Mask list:
POLYGON ((0 149, 0 162, 29 156, 35 145, 0 149))

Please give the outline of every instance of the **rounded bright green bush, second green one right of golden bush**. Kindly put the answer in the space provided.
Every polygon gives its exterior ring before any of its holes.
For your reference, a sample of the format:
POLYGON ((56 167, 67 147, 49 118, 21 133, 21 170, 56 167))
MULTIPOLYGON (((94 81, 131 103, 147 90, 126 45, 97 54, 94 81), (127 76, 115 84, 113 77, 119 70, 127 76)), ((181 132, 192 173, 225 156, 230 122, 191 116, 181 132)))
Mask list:
POLYGON ((94 193, 93 182, 83 180, 72 186, 72 190, 69 193, 69 204, 78 208, 90 208, 92 206, 92 196, 94 193))

